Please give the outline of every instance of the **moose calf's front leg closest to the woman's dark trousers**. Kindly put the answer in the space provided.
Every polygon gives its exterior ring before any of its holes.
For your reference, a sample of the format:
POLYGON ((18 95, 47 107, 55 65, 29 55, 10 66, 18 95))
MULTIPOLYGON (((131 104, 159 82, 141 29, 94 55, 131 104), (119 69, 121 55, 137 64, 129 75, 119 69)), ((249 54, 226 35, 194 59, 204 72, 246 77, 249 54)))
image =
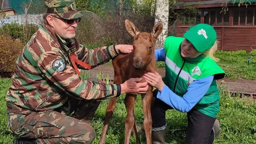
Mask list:
POLYGON ((151 90, 148 90, 146 94, 142 95, 142 107, 144 112, 143 126, 146 133, 147 144, 151 144, 152 118, 151 118, 150 109, 151 109, 152 98, 153 98, 153 93, 151 90))

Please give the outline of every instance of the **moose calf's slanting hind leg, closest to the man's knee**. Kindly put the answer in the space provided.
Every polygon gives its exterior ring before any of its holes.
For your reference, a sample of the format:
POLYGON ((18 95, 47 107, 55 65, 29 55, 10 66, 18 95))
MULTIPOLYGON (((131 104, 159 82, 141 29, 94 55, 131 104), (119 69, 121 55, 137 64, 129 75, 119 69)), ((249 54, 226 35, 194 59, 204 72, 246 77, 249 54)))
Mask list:
POLYGON ((110 101, 108 103, 108 106, 107 106, 107 109, 106 109, 104 127, 103 127, 103 131, 102 131, 102 134, 101 134, 101 137, 100 137, 99 144, 104 144, 105 143, 105 138, 106 138, 106 134, 107 134, 107 130, 108 130, 109 120, 110 120, 110 117, 112 116, 112 114, 113 114, 113 112, 116 108, 116 99, 117 99, 117 97, 112 98, 112 99, 110 99, 110 101))

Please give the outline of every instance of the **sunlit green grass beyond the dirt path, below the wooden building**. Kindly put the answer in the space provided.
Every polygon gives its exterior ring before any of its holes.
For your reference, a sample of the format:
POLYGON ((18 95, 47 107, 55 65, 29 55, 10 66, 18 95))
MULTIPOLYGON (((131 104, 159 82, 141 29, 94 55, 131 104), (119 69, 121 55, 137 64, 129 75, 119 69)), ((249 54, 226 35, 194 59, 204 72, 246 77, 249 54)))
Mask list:
POLYGON ((226 72, 228 79, 256 79, 256 50, 246 53, 245 51, 216 52, 217 62, 226 72), (248 57, 251 58, 248 65, 248 57))

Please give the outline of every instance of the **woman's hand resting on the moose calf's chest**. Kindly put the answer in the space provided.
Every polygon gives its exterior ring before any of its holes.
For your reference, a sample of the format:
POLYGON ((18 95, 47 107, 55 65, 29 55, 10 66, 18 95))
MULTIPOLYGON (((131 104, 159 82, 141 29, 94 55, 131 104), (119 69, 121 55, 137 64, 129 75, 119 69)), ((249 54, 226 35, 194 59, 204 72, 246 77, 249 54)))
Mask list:
POLYGON ((152 85, 153 87, 156 87, 160 92, 162 92, 164 88, 164 81, 162 80, 162 76, 160 76, 157 72, 148 72, 143 75, 143 78, 145 79, 146 82, 148 82, 148 84, 152 85))

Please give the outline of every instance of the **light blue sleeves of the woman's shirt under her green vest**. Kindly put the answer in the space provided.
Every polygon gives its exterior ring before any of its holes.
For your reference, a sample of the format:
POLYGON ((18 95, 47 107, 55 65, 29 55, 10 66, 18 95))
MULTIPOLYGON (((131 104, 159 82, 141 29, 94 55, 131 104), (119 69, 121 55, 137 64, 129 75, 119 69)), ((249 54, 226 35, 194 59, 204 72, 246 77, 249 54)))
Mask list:
MULTIPOLYGON (((157 61, 164 61, 166 57, 164 48, 157 49, 155 57, 157 61)), ((167 85, 164 85, 162 92, 158 92, 156 97, 175 110, 188 112, 204 97, 212 84, 213 78, 214 76, 207 76, 197 79, 188 86, 187 92, 183 97, 178 96, 167 85)))

